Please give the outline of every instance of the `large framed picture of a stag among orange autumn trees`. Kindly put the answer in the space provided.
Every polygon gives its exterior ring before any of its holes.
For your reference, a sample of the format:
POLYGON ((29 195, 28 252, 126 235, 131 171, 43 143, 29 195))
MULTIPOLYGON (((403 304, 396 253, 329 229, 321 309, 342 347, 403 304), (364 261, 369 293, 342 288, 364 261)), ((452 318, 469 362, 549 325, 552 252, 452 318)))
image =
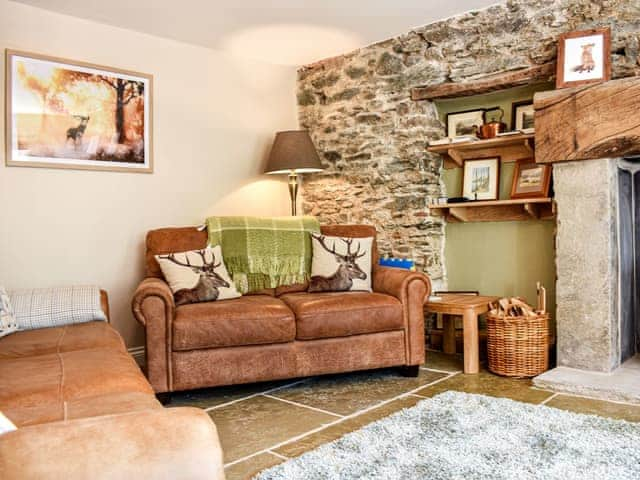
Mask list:
POLYGON ((153 171, 151 75, 6 51, 6 164, 153 171))

